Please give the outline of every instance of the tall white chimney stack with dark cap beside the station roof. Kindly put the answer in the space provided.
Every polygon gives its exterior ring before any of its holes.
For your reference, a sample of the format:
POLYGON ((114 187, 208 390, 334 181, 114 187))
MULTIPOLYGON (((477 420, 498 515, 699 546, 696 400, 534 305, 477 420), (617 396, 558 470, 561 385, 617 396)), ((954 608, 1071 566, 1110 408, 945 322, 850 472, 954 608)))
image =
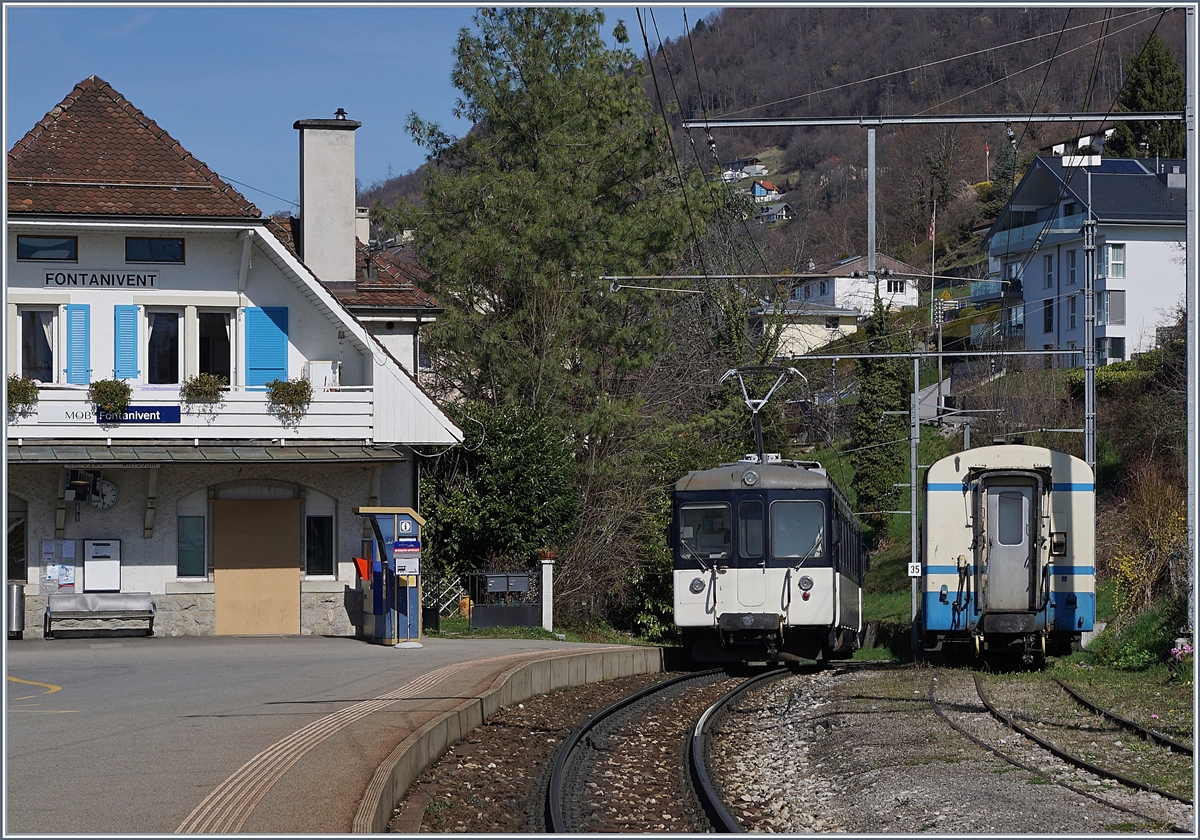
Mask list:
POLYGON ((354 283, 354 131, 346 119, 296 120, 300 131, 300 258, 325 283, 354 283))

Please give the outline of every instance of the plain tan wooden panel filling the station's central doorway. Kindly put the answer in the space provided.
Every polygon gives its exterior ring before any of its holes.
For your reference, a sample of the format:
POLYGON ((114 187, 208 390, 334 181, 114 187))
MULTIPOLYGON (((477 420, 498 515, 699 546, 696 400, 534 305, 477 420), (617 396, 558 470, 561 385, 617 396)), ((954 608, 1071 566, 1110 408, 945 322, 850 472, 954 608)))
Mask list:
POLYGON ((299 499, 212 503, 216 635, 300 634, 299 499))

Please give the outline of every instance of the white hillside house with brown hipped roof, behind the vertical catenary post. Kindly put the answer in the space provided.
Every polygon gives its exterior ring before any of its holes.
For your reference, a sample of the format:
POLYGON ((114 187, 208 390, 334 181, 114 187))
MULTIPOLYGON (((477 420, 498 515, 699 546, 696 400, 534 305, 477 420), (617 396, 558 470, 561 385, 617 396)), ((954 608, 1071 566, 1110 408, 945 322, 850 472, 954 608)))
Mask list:
POLYGON ((875 308, 877 284, 880 299, 887 308, 917 306, 917 283, 922 272, 914 266, 878 253, 875 256, 876 282, 871 282, 866 271, 866 257, 848 257, 822 265, 810 264, 805 276, 792 287, 791 298, 805 304, 854 310, 859 316, 868 316, 875 308))

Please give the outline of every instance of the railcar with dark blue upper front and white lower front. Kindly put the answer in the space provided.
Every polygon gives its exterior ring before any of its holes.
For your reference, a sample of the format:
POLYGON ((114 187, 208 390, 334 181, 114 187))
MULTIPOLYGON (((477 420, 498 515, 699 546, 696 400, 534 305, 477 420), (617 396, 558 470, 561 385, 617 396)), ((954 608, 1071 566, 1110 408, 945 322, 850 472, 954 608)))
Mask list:
POLYGON ((848 656, 863 624, 857 517, 815 461, 737 463, 674 487, 674 620, 697 661, 848 656))

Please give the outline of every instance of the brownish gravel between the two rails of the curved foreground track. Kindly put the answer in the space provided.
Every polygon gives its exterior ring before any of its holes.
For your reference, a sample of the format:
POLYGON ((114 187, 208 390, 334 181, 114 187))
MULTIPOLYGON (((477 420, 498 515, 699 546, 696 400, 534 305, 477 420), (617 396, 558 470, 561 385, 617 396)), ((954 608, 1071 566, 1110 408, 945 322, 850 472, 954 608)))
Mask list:
MULTIPOLYGON (((686 774, 685 746, 696 720, 737 679, 689 682, 622 709, 587 738, 571 792, 570 832, 700 832, 707 827, 686 774)), ((564 799, 568 796, 564 794, 564 799)), ((564 811, 568 803, 563 803, 564 811)))

